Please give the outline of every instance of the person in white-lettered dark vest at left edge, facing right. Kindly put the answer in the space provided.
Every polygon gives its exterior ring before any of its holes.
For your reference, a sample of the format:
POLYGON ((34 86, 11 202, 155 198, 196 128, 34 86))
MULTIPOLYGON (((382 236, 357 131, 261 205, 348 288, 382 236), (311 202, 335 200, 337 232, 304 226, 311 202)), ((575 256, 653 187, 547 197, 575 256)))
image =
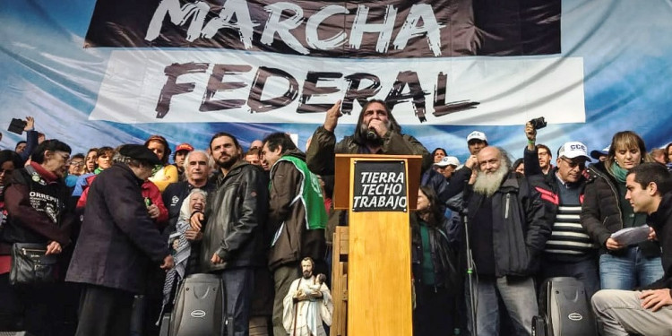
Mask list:
MULTIPOLYGON (((1 230, 0 254, 4 255, 0 260, 9 260, 7 254, 14 243, 39 244, 44 246, 47 254, 56 254, 59 258, 71 245, 70 231, 76 218, 68 204, 70 193, 63 179, 70 151, 64 142, 47 140, 32 152, 28 166, 20 168, 14 163, 12 176, 6 178, 4 173, 7 220, 1 230)), ((4 266, 7 264, 4 263, 4 266)), ((6 267, 3 268, 6 270, 6 267)), ((0 286, 8 283, 5 276, 3 274, 0 278, 3 281, 0 286)), ((56 334, 64 320, 63 302, 58 299, 64 289, 63 281, 13 286, 10 290, 13 295, 21 297, 22 305, 19 307, 22 313, 14 322, 22 323, 23 329, 30 334, 56 334)), ((0 299, 4 307, 12 305, 10 297, 0 299)))

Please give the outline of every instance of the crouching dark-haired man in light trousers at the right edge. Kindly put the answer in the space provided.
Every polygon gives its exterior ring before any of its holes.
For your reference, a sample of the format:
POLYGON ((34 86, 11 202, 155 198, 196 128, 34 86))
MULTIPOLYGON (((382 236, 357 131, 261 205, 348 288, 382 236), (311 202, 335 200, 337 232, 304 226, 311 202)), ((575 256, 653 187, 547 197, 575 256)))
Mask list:
POLYGON ((592 306, 604 325, 605 336, 669 335, 672 333, 672 176, 659 163, 642 163, 625 178, 635 212, 647 213, 662 247, 663 277, 642 291, 603 289, 592 297, 592 306))

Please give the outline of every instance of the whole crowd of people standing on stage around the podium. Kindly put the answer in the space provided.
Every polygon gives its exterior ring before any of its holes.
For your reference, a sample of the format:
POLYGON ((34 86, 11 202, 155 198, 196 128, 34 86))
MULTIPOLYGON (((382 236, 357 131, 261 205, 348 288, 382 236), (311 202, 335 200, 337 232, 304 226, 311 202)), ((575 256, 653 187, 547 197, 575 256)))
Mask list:
POLYGON ((577 139, 552 151, 528 123, 520 159, 474 131, 461 164, 404 134, 382 100, 340 141, 339 117, 337 102, 306 151, 288 134, 244 151, 217 133, 205 150, 172 151, 152 135, 86 154, 28 117, 26 141, 0 151, 0 331, 158 335, 179 283, 211 273, 227 293, 224 334, 325 335, 328 312, 304 322, 291 312, 328 311, 331 279, 317 274, 331 274, 332 234, 349 225, 332 207, 334 154, 359 153, 423 158, 410 214, 414 334, 530 335, 540 285, 554 277, 582 282, 604 335, 672 332, 672 143, 649 153, 623 131, 603 150, 577 139), (646 235, 620 240, 623 228, 646 235), (56 280, 13 277, 21 243, 57 256, 56 280), (314 295, 297 294, 302 279, 314 295))

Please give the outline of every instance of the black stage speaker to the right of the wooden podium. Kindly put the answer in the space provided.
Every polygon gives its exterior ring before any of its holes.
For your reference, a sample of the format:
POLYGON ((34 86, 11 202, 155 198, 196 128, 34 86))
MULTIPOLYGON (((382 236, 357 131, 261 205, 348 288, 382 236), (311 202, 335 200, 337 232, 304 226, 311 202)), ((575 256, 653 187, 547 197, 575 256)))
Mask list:
POLYGON ((532 318, 532 336, 597 336, 590 297, 581 281, 551 278, 539 293, 539 315, 532 318))

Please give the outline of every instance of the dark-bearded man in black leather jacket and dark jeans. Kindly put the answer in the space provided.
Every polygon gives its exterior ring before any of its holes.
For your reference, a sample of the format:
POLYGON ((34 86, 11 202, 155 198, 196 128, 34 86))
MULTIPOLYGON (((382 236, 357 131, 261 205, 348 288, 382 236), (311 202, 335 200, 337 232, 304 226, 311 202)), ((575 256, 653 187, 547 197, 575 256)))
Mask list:
POLYGON ((192 216, 192 228, 203 231, 203 271, 218 273, 224 281, 226 335, 247 336, 254 267, 263 265, 265 251, 268 178, 262 168, 241 158, 242 149, 233 135, 213 135, 210 149, 220 171, 205 213, 192 216))

